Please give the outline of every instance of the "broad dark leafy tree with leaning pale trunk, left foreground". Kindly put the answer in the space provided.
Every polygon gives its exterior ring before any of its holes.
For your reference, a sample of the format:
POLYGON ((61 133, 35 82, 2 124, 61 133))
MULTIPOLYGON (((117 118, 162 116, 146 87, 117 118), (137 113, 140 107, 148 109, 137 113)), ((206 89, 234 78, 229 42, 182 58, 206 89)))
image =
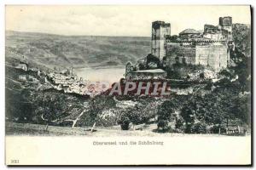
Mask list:
POLYGON ((30 100, 33 104, 32 120, 36 123, 46 123, 45 130, 49 124, 61 125, 65 122, 73 122, 74 127, 85 110, 82 99, 54 90, 38 91, 30 100))

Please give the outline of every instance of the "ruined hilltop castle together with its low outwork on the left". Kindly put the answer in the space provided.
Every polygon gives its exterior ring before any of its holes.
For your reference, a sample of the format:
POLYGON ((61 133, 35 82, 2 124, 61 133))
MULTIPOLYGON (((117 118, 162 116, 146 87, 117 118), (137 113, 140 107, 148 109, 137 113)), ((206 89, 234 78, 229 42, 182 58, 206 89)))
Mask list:
POLYGON ((165 78, 166 71, 160 68, 175 70, 175 65, 176 68, 182 68, 183 65, 202 65, 207 70, 218 72, 230 65, 230 50, 234 48, 230 16, 220 17, 218 26, 206 24, 203 31, 186 29, 178 36, 171 36, 170 23, 154 21, 151 54, 142 61, 138 60, 136 65, 127 63, 125 79, 165 78), (140 65, 143 65, 142 68, 140 65))

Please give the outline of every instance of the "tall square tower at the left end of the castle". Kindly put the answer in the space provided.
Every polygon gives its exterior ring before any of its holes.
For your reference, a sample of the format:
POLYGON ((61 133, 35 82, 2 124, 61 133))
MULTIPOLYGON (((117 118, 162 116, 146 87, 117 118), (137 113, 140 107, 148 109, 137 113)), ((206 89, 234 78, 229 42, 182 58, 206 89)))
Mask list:
POLYGON ((158 57, 160 61, 166 56, 166 36, 171 35, 171 24, 164 21, 154 21, 152 23, 152 44, 151 54, 158 57))

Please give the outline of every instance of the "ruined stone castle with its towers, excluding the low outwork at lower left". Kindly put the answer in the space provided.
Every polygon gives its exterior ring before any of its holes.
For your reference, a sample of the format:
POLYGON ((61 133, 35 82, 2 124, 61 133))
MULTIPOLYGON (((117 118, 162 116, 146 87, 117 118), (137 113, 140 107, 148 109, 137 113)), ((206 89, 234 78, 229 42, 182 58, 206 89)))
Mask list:
POLYGON ((203 32, 186 29, 171 37, 171 24, 152 23, 151 54, 162 65, 203 65, 221 71, 230 65, 230 50, 234 48, 232 18, 220 17, 218 26, 205 25, 203 32))

